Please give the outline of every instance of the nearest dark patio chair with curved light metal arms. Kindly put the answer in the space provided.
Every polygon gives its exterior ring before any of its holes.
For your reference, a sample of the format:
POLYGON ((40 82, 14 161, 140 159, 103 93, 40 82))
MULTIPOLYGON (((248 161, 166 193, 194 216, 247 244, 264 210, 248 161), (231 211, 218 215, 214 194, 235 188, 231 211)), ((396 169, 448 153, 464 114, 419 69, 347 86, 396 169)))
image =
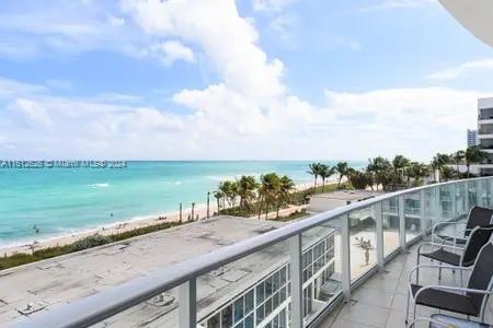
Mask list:
POLYGON ((405 324, 408 325, 410 301, 414 304, 413 320, 416 318, 417 305, 480 318, 484 323, 484 313, 493 284, 493 242, 481 248, 471 268, 443 267, 443 269, 471 271, 467 288, 449 285, 419 285, 412 283, 412 276, 419 268, 439 268, 434 265, 414 267, 409 276, 408 307, 405 324))

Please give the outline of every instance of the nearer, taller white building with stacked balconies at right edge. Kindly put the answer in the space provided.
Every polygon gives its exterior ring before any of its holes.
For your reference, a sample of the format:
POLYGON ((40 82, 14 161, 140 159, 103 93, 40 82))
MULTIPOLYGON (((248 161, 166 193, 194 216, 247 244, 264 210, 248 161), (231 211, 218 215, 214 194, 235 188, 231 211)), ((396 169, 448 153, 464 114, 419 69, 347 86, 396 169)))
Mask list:
POLYGON ((478 140, 479 147, 489 153, 488 164, 479 165, 481 175, 493 174, 493 97, 478 99, 478 140))

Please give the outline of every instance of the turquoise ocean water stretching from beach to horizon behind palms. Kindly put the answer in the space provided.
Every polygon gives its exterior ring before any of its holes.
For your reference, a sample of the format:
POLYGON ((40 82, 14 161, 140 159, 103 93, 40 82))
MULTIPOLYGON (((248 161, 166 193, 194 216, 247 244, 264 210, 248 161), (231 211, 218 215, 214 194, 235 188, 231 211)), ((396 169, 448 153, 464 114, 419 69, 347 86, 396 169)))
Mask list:
MULTIPOLYGON (((180 202, 185 208, 205 203, 207 191, 219 181, 242 174, 276 172, 296 183, 311 181, 309 163, 127 162, 119 169, 0 168, 0 247, 174 212, 180 202)), ((365 164, 349 162, 353 167, 365 164)))

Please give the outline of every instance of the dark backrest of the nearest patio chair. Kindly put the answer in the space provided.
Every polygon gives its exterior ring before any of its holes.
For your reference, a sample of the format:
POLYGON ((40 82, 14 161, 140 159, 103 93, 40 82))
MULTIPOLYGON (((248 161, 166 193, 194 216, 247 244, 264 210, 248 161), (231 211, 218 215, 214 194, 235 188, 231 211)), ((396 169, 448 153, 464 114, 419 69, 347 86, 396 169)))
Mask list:
MULTIPOLYGON (((493 243, 488 243, 481 249, 471 277, 469 278, 468 288, 474 290, 486 291, 491 286, 493 279, 493 243)), ((486 295, 468 292, 467 295, 471 298, 475 308, 481 309, 482 303, 486 295)), ((486 298, 488 300, 488 298, 486 298)))

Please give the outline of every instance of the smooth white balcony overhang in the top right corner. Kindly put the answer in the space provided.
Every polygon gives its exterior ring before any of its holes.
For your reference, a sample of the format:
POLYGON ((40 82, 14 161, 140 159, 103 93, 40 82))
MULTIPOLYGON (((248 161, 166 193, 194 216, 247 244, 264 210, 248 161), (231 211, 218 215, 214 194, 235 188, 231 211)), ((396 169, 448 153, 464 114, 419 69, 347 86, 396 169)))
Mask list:
POLYGON ((492 0, 439 0, 475 37, 493 47, 492 0))

